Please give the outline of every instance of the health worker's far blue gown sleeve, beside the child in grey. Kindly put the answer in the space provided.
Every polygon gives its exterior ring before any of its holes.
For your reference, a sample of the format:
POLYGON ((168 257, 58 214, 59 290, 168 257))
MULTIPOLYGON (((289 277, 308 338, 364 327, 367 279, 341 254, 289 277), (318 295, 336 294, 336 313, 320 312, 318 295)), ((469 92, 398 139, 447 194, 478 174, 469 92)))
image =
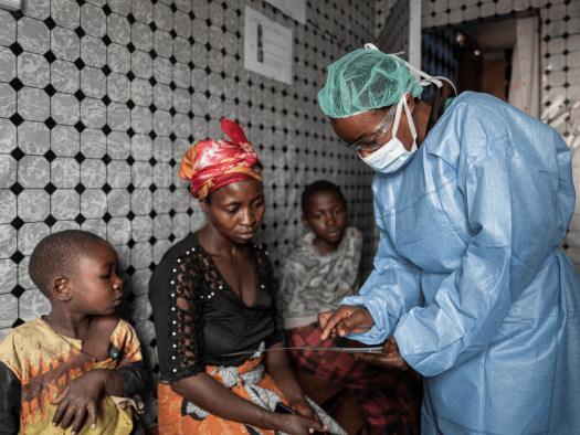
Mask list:
POLYGON ((366 344, 384 342, 392 335, 398 319, 422 303, 421 270, 394 250, 377 201, 375 220, 380 230, 375 269, 360 288, 359 296, 350 296, 341 301, 341 305, 366 307, 372 316, 375 326, 370 331, 347 336, 366 344))

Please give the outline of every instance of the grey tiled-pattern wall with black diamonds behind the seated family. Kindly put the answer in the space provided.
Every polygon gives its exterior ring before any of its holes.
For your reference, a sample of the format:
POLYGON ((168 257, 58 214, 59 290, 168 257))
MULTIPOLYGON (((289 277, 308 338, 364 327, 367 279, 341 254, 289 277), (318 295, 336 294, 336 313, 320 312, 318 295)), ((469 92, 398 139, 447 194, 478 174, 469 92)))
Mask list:
MULTIPOLYGON (((28 276, 35 244, 64 229, 109 241, 126 307, 156 372, 147 284, 161 255, 204 223, 177 178, 183 152, 245 124, 264 163, 259 242, 277 265, 303 232, 299 193, 338 183, 362 230, 376 230, 371 171, 335 138, 316 94, 326 66, 372 41, 375 1, 309 1, 298 24, 256 0, 28 0, 0 10, 0 339, 46 314, 28 276), (293 31, 293 85, 243 67, 245 6, 293 31)), ((152 410, 155 413, 155 410, 152 410)))

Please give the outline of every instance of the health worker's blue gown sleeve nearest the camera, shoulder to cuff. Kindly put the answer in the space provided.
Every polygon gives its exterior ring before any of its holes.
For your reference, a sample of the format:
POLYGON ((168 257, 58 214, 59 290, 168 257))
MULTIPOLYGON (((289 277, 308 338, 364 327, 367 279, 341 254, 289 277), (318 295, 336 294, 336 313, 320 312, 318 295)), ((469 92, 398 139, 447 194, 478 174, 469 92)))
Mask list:
POLYGON ((401 356, 423 375, 485 350, 566 234, 574 202, 570 151, 553 129, 528 124, 495 138, 481 120, 458 129, 462 149, 483 142, 477 153, 462 151, 457 171, 475 235, 434 301, 403 315, 394 331, 401 356))

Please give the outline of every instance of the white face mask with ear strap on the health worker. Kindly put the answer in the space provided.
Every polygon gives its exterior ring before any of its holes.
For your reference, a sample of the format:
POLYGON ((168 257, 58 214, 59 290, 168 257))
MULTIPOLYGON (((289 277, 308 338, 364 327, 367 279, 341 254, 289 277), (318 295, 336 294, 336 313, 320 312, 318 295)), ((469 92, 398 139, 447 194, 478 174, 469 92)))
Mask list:
POLYGON ((416 130, 411 117, 411 110, 407 105, 405 94, 401 96, 397 105, 397 114, 394 115, 394 123, 392 126, 392 139, 380 147, 377 151, 360 159, 375 169, 377 172, 390 173, 398 170, 409 159, 409 157, 416 151, 416 130), (409 123, 409 129, 413 136, 413 145, 411 151, 408 151, 401 141, 397 138, 397 130, 399 129, 399 123, 401 121, 401 112, 404 106, 404 113, 407 114, 407 120, 409 123))

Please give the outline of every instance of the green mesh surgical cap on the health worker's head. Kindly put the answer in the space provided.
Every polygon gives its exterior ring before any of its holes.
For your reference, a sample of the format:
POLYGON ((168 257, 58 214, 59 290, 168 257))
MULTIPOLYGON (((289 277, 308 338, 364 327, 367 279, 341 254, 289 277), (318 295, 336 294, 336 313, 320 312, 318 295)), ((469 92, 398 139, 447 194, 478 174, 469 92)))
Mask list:
POLYGON ((318 104, 333 118, 398 103, 401 95, 421 95, 404 62, 379 50, 358 49, 328 66, 326 85, 318 92, 318 104))

